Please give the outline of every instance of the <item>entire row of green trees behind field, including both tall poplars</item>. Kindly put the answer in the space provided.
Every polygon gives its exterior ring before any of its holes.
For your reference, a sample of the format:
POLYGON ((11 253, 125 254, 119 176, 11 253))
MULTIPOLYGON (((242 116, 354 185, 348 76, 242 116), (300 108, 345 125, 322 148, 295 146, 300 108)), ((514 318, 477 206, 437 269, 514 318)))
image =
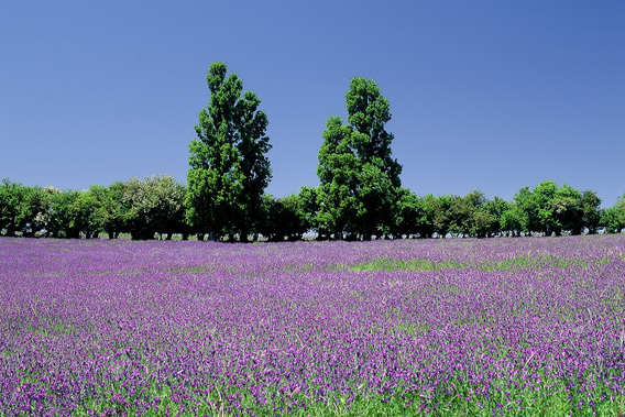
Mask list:
POLYGON ((261 100, 243 92, 235 74, 212 63, 210 101, 199 113, 189 144, 187 184, 172 176, 116 182, 87 190, 0 184, 3 235, 110 239, 129 233, 146 240, 174 234, 186 240, 268 241, 380 238, 519 237, 619 233, 625 194, 602 209, 592 190, 546 180, 520 188, 512 201, 475 190, 465 196, 418 196, 402 187, 402 165, 392 157, 388 101, 377 85, 351 79, 347 123, 330 117, 322 132, 319 186, 275 198, 264 193, 272 171, 267 116, 261 100))

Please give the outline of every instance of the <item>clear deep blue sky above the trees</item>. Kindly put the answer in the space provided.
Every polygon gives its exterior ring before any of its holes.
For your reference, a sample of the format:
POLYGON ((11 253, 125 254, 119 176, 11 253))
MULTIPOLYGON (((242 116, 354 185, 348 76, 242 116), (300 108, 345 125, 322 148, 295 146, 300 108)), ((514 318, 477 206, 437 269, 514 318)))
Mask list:
POLYGON ((3 0, 0 56, 0 178, 25 185, 186 182, 222 61, 268 116, 275 196, 318 184, 352 76, 388 99, 418 195, 625 193, 622 0, 3 0))

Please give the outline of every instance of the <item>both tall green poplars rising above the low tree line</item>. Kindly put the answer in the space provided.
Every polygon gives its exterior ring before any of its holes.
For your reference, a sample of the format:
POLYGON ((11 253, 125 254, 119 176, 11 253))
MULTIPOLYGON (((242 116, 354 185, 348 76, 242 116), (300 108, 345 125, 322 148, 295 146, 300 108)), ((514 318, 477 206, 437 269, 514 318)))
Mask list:
MULTIPOLYGON (((226 75, 226 64, 210 65, 210 102, 200 111, 197 139, 189 144, 187 220, 211 240, 238 234, 246 241, 251 230, 263 227, 266 211, 263 191, 272 177, 265 155, 271 149, 267 117, 259 110, 256 95, 242 92, 235 74, 226 75)), ((393 134, 384 128, 390 106, 375 83, 354 77, 346 101, 348 123, 332 116, 322 134, 318 222, 335 238, 355 230, 370 240, 393 223, 402 165, 391 157, 393 134)))

